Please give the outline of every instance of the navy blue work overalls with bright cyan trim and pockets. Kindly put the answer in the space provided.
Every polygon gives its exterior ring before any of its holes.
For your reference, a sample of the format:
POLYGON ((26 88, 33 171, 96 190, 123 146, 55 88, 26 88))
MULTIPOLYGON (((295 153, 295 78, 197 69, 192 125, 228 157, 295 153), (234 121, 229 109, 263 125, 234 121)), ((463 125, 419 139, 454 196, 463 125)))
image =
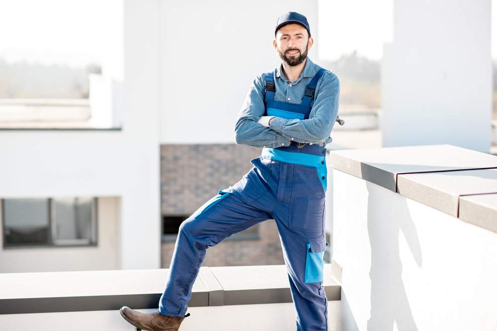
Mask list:
MULTIPOLYGON (((274 100, 273 72, 265 74, 265 115, 308 119, 319 70, 301 104, 274 100)), ((326 148, 299 144, 263 148, 253 167, 235 185, 218 194, 179 227, 159 312, 183 317, 206 249, 267 219, 274 219, 296 310, 298 331, 328 330, 328 299, 323 286, 326 148)), ((234 326, 234 329, 236 327, 234 326)))

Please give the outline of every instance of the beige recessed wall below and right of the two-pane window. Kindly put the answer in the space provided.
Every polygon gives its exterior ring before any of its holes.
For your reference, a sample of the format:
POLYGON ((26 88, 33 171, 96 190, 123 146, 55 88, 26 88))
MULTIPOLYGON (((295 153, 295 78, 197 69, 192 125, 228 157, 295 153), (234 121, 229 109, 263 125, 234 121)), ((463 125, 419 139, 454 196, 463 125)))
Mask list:
MULTIPOLYGON (((2 249, 0 272, 119 269, 120 199, 98 198, 97 204, 97 246, 2 249)), ((3 247, 3 236, 0 236, 0 247, 3 247)))

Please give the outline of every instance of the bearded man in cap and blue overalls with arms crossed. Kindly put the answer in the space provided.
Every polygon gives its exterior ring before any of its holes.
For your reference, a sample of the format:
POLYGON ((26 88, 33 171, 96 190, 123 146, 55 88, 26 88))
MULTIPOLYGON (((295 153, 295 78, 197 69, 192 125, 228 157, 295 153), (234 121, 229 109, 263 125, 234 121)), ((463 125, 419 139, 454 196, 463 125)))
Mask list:
MULTIPOLYGON (((281 66, 252 82, 235 126, 238 144, 262 147, 238 183, 219 190, 181 223, 159 312, 128 307, 121 315, 143 330, 178 330, 206 249, 234 233, 274 219, 296 308, 298 331, 328 330, 322 285, 326 148, 338 112, 338 78, 307 57, 313 46, 304 15, 276 23, 281 66)), ((236 330, 236 326, 234 326, 236 330)))

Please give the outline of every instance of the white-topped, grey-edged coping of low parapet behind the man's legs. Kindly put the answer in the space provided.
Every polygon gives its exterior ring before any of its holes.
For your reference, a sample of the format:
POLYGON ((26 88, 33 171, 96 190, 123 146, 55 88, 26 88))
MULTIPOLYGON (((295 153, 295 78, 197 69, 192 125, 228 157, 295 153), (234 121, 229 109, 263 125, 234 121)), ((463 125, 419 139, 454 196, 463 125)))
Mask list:
MULTIPOLYGON (((0 314, 158 308, 169 269, 0 273, 0 314)), ((325 264, 328 300, 340 285, 325 264)), ((202 266, 189 307, 292 302, 285 265, 202 266), (242 279, 242 281, 241 281, 242 279), (283 279, 286 279, 283 281, 283 279)))

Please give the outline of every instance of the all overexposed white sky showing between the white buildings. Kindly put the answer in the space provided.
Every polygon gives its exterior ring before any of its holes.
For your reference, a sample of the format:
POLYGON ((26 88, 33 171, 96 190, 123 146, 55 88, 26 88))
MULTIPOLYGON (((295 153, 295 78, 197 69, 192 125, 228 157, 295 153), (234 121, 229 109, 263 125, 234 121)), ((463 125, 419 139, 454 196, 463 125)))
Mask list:
MULTIPOLYGON (((101 63, 118 26, 120 0, 15 0, 0 4, 0 57, 9 61, 80 66, 101 63), (64 15, 61 15, 64 13, 64 15)), ((394 0, 318 0, 319 56, 333 61, 357 50, 372 60, 393 38, 394 0), (360 8, 360 10, 358 10, 360 8)), ((497 0, 492 21, 497 22, 497 0)), ((492 24, 492 57, 497 57, 492 24)))

